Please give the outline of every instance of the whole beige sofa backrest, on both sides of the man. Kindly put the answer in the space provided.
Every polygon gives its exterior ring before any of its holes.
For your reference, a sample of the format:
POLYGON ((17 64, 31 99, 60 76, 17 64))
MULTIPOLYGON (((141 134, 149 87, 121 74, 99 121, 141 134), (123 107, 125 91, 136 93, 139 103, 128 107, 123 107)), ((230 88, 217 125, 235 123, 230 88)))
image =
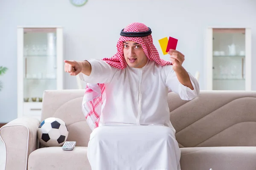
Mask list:
MULTIPOLYGON (((84 90, 44 91, 41 120, 66 122, 68 141, 87 146, 90 127, 81 111, 84 90)), ((180 147, 256 146, 256 91, 201 91, 184 101, 168 94, 170 120, 180 147)))

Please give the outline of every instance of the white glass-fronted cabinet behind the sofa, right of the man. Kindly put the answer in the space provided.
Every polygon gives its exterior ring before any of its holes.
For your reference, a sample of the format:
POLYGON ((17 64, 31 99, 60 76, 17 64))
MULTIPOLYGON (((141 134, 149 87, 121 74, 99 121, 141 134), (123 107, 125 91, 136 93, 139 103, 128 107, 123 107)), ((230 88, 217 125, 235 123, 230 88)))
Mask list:
POLYGON ((207 90, 251 90, 251 29, 207 29, 207 90))

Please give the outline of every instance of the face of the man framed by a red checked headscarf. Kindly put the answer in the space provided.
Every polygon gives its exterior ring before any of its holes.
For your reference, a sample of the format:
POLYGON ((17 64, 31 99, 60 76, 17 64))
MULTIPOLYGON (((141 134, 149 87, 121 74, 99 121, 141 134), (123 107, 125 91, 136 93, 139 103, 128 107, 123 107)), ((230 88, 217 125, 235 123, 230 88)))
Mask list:
POLYGON ((141 44, 134 41, 124 41, 123 46, 125 61, 130 67, 142 68, 146 65, 148 58, 141 44))

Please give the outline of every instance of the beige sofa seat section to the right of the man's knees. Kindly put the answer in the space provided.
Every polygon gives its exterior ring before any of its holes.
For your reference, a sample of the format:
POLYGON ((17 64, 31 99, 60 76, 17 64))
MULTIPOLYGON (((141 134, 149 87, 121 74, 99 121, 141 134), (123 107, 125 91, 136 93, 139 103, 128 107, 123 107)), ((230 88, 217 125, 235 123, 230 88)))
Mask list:
POLYGON ((186 147, 181 170, 256 170, 256 147, 186 147))

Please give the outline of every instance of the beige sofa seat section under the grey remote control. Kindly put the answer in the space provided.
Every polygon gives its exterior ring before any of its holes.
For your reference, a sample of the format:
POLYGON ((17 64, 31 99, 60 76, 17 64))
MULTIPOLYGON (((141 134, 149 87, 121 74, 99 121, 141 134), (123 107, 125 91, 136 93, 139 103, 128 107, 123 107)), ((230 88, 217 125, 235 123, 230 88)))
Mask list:
POLYGON ((91 170, 87 147, 44 147, 29 155, 28 170, 91 170))

